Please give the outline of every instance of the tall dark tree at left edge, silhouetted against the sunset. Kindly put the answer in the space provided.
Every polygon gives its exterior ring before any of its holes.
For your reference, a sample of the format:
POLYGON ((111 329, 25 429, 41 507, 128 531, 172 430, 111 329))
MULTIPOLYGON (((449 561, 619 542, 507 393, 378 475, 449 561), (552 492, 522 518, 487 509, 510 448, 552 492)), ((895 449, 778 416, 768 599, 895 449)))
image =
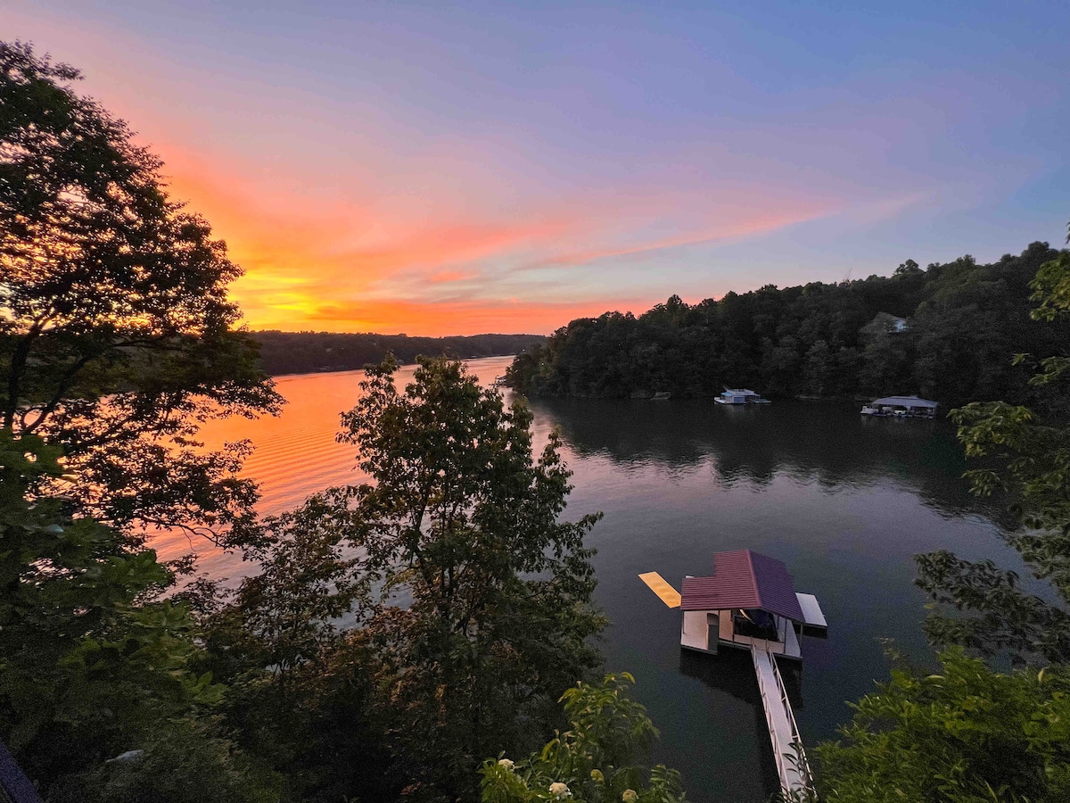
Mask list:
POLYGON ((76 481, 49 483, 128 536, 236 537, 247 448, 204 453, 196 433, 279 403, 232 331, 240 270, 79 77, 0 43, 0 427, 61 445, 76 481))

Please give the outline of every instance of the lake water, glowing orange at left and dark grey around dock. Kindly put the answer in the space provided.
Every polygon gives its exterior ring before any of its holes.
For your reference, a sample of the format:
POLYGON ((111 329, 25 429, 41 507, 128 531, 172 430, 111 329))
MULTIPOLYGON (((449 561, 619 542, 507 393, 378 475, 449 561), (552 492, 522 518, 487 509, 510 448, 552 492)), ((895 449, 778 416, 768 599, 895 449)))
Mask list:
MULTIPOLYGON (((475 360, 488 383, 508 358, 475 360)), ((399 380, 411 377, 402 368, 399 380)), ((253 439, 246 474, 262 484, 264 513, 293 507, 320 488, 363 480, 355 450, 334 442, 360 372, 281 377, 289 404, 277 419, 213 423, 210 442, 253 439)), ((682 651, 681 613, 637 577, 713 572, 714 552, 750 548, 788 564, 798 591, 815 594, 827 639, 802 639, 802 668, 785 681, 810 746, 834 738, 846 700, 888 677, 878 641, 922 664, 924 596, 912 556, 948 548, 1021 570, 992 510, 960 479, 965 466, 944 421, 871 420, 857 405, 777 403, 736 409, 696 402, 569 399, 533 403, 541 442, 563 436, 575 474, 567 515, 602 511, 598 604, 612 624, 607 670, 636 676, 636 696, 661 731, 654 759, 678 769, 694 801, 750 803, 776 791, 773 752, 749 656, 682 651)), ((162 556, 189 551, 162 539, 162 556)), ((196 545, 195 545, 196 546, 196 545)), ((231 581, 251 570, 204 550, 202 570, 231 581)))

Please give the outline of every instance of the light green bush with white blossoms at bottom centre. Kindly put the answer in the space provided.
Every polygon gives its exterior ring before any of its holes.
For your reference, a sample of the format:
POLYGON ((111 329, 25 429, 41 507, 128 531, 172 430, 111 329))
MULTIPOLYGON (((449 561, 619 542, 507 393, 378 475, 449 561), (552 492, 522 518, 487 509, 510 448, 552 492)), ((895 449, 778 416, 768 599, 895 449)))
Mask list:
POLYGON ((565 692, 569 728, 522 761, 487 759, 479 770, 484 803, 683 803, 679 773, 637 761, 658 732, 646 710, 627 696, 624 672, 565 692))

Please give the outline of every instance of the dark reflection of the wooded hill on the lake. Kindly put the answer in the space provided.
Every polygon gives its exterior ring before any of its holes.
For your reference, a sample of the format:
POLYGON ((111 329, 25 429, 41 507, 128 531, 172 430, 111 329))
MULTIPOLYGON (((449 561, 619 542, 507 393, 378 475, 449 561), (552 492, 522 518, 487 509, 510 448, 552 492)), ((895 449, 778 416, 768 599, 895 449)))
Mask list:
POLYGON ((549 399, 532 404, 581 457, 621 470, 670 475, 708 469, 718 487, 767 487, 777 476, 827 490, 900 484, 946 515, 983 510, 961 481, 966 465, 946 421, 876 420, 856 405, 781 402, 733 407, 709 402, 549 399))

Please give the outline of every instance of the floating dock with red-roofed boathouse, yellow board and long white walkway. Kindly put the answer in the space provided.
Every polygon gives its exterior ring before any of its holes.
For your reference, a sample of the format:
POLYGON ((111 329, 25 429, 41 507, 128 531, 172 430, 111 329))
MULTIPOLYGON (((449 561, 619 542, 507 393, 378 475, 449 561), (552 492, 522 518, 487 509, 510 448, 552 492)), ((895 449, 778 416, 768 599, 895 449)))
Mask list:
POLYGON ((780 787, 785 793, 811 790, 810 767, 776 658, 801 661, 799 637, 827 632, 817 599, 797 593, 779 560, 749 549, 715 554, 713 576, 685 577, 683 592, 657 572, 640 578, 666 605, 683 610, 681 647, 712 654, 719 647, 750 651, 780 787))

